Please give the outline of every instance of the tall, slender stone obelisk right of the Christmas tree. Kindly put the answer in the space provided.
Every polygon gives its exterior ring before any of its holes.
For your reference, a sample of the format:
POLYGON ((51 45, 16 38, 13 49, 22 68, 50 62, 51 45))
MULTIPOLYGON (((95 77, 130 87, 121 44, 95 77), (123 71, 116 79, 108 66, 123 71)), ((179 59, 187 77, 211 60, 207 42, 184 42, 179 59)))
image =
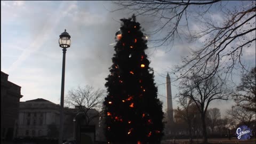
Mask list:
POLYGON ((167 90, 167 119, 171 123, 173 123, 171 78, 168 73, 166 76, 166 90, 167 90))

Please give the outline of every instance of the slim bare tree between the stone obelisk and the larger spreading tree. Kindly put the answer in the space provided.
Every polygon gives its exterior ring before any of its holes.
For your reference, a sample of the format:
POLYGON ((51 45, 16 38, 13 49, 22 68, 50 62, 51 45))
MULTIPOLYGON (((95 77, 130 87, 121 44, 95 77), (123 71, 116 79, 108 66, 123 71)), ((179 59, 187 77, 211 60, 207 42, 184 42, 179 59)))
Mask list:
POLYGON ((194 118, 194 113, 191 111, 190 106, 193 102, 187 97, 180 97, 178 103, 180 104, 181 109, 178 107, 177 110, 175 110, 176 117, 188 124, 189 142, 192 143, 192 120, 194 118))

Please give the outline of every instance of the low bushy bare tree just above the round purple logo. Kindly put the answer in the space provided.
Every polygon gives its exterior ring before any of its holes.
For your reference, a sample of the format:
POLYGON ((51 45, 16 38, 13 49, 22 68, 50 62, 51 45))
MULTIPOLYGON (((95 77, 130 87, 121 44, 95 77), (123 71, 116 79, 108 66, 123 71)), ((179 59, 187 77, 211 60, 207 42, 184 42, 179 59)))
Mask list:
POLYGON ((252 126, 255 121, 255 112, 247 111, 243 107, 233 106, 227 111, 229 119, 234 119, 236 122, 245 124, 247 126, 252 126))

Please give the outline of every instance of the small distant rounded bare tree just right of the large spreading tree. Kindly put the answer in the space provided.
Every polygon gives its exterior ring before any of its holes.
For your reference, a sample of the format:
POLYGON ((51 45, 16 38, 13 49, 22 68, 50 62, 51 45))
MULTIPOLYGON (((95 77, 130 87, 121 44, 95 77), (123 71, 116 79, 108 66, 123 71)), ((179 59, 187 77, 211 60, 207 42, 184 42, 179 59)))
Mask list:
POLYGON ((214 133, 214 128, 218 126, 218 122, 220 121, 220 119, 220 109, 210 108, 206 111, 207 125, 210 126, 212 134, 214 133))

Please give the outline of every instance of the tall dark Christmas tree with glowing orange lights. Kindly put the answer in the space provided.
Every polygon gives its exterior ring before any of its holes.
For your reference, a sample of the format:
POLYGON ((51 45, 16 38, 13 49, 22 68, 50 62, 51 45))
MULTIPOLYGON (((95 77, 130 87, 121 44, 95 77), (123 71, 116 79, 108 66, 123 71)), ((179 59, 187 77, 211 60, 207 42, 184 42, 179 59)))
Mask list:
POLYGON ((134 15, 121 21, 105 84, 106 138, 108 143, 160 143, 162 102, 157 98, 154 71, 145 54, 147 37, 134 15))

